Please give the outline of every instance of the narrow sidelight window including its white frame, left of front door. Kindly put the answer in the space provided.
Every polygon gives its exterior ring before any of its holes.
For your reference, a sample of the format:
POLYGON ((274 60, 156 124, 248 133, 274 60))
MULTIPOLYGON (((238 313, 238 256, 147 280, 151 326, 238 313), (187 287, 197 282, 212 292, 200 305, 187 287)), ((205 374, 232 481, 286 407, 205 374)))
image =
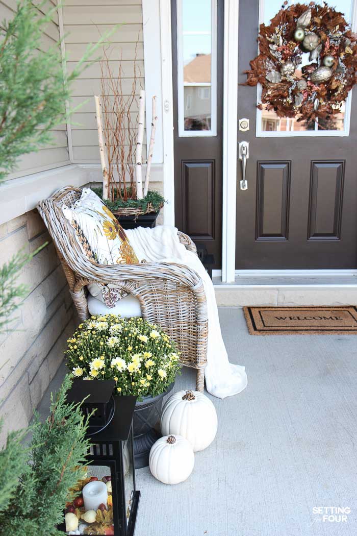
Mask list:
POLYGON ((177 26, 179 136, 215 136, 215 0, 178 0, 177 26))

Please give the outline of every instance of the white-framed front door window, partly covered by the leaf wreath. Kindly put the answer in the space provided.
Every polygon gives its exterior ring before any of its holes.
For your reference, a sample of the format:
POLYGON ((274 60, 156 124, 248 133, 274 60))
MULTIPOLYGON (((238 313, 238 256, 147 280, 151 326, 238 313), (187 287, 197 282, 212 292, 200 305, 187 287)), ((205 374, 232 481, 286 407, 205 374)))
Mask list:
MULTIPOLYGON (((298 3, 298 0, 290 0, 288 5, 298 3)), ((323 2, 320 2, 323 3, 323 2)), ((277 12, 282 8, 282 2, 280 0, 261 0, 261 21, 266 25, 270 24, 270 20, 275 17, 277 12)), ((333 6, 337 11, 341 11, 345 14, 347 23, 351 23, 352 12, 352 0, 335 0, 333 6)), ((299 71, 301 73, 301 67, 307 65, 309 62, 309 53, 302 54, 302 63, 299 65, 299 69, 295 71, 295 74, 299 77, 299 71)), ((325 120, 319 119, 318 121, 305 121, 299 120, 299 116, 278 117, 274 110, 267 110, 267 105, 263 105, 263 109, 260 115, 261 130, 262 132, 301 132, 301 131, 326 131, 326 130, 344 130, 345 129, 345 104, 341 107, 338 114, 333 117, 326 118, 325 120)), ((301 117, 301 116, 300 116, 301 117)))

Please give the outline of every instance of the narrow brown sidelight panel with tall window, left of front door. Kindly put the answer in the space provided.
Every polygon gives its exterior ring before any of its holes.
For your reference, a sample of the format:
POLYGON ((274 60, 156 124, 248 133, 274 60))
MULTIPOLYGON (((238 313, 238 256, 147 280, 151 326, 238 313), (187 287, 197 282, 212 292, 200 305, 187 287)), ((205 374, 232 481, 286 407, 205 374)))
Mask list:
POLYGON ((223 1, 172 0, 175 225, 222 259, 223 1))

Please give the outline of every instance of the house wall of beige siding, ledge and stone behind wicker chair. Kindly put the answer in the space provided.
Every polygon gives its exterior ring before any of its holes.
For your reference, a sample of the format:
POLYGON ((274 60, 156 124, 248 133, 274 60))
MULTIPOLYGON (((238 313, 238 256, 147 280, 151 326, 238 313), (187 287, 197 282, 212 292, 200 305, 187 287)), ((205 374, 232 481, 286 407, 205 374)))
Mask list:
MULTIPOLYGON (((56 5, 56 0, 49 0, 46 9, 52 5, 56 5)), ((12 18, 15 10, 16 0, 0 0, 0 20, 12 18)), ((140 69, 136 93, 145 88, 141 0, 106 0, 105 5, 100 0, 67 0, 59 15, 46 29, 43 43, 49 47, 60 35, 65 35, 68 71, 74 68, 88 43, 96 42, 113 25, 125 23, 110 38, 111 54, 115 58, 112 66, 114 70, 117 68, 119 55, 123 54, 123 90, 128 95, 136 49, 140 69)), ((63 360, 66 340, 77 322, 54 245, 34 210, 40 199, 49 197, 63 185, 81 186, 102 179, 93 99, 100 92, 100 65, 97 62, 90 65, 72 89, 71 107, 87 102, 73 115, 71 125, 56 128, 55 147, 25 155, 19 161, 18 170, 8 176, 11 180, 1 186, 1 264, 20 249, 34 251, 46 241, 49 244, 22 270, 19 282, 28 286, 28 295, 17 311, 16 330, 0 336, 0 415, 5 425, 0 445, 9 429, 25 427, 31 420, 33 409, 63 360), (53 168, 58 169, 51 171, 53 168)), ((150 90, 150 98, 153 91, 150 90)), ((147 107, 148 104, 147 100, 147 107)), ((162 116, 161 101, 157 111, 162 116)), ((135 114, 134 109, 134 117, 135 114)), ((146 159, 146 139, 145 132, 143 159, 146 159)), ((163 192, 162 135, 157 139, 157 148, 161 157, 154 159, 150 187, 163 192)), ((162 214, 158 222, 163 222, 162 214)))

